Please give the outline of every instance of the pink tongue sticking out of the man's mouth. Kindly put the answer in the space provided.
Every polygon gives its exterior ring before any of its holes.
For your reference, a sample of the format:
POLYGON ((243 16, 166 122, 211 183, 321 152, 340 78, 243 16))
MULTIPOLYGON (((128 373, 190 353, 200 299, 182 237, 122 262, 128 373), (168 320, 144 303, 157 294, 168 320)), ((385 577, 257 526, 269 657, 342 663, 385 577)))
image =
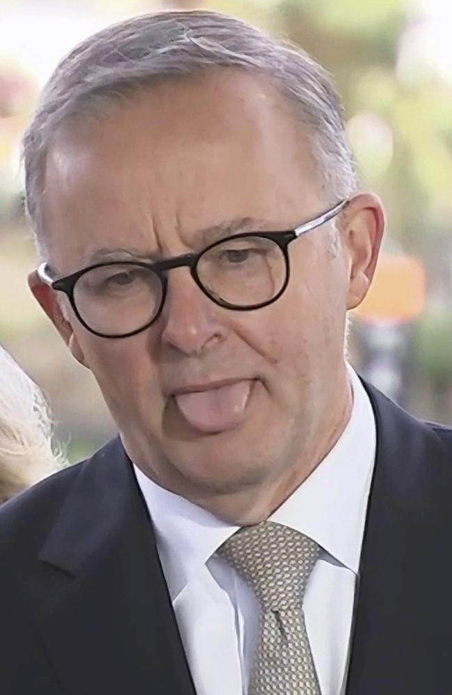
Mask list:
POLYGON ((238 425, 250 395, 249 379, 218 389, 180 393, 176 402, 187 422, 202 432, 220 432, 238 425))

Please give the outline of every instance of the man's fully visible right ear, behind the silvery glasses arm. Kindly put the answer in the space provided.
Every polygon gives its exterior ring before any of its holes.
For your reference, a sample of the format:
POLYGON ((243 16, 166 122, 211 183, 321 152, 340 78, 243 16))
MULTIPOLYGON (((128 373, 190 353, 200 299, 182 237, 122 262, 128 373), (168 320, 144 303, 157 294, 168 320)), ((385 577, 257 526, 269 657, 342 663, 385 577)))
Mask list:
POLYGON ((346 208, 341 236, 347 254, 347 309, 355 309, 369 291, 385 231, 378 196, 361 193, 346 208))

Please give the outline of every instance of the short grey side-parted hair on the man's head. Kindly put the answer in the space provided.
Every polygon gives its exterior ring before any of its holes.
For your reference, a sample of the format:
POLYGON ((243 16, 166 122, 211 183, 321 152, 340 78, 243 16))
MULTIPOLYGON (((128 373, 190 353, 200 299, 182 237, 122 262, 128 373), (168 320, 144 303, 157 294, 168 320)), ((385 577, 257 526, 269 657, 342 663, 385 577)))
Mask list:
POLYGON ((332 199, 357 190, 341 101, 328 74, 304 51, 239 19, 211 11, 167 11, 109 26, 64 58, 42 90, 23 143, 26 209, 40 251, 40 193, 52 136, 70 117, 105 113, 108 104, 161 79, 215 67, 261 74, 288 99, 312 138, 322 187, 332 199))

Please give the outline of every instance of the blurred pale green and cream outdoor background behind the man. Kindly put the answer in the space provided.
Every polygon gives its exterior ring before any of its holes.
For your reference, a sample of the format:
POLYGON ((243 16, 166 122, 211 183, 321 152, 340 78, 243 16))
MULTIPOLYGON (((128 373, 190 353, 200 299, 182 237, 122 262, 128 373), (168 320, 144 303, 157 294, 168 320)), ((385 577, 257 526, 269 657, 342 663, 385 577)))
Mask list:
POLYGON ((90 374, 26 286, 35 254, 21 212, 19 140, 40 87, 76 42, 125 17, 191 7, 221 10, 297 42, 334 77, 363 186, 387 210, 381 268, 389 261, 396 269, 389 279, 382 273, 384 297, 353 318, 350 360, 415 414, 452 423, 450 0, 3 0, 0 342, 45 391, 70 459, 103 443, 114 427, 90 374), (416 272, 402 272, 410 264, 416 272))

